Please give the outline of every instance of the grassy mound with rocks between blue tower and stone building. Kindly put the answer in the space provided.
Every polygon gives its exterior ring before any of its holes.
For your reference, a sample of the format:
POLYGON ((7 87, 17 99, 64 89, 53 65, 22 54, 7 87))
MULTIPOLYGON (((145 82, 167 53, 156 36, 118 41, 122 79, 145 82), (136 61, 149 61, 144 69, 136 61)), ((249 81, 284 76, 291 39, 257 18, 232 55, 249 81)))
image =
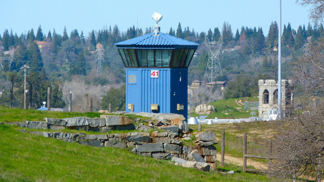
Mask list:
MULTIPOLYGON (((253 110, 244 110, 244 105, 238 105, 235 101, 241 100, 243 103, 244 101, 248 100, 249 102, 259 101, 257 97, 245 97, 245 98, 237 98, 237 99, 227 99, 221 100, 217 102, 209 103, 208 105, 213 105, 217 109, 217 112, 213 112, 209 114, 207 119, 213 119, 218 117, 219 119, 235 119, 238 118, 249 118, 252 115, 250 114, 253 110), (227 113, 227 114, 226 114, 227 113)), ((257 113, 257 112, 256 112, 257 113)), ((195 112, 188 113, 191 117, 199 116, 195 112)))

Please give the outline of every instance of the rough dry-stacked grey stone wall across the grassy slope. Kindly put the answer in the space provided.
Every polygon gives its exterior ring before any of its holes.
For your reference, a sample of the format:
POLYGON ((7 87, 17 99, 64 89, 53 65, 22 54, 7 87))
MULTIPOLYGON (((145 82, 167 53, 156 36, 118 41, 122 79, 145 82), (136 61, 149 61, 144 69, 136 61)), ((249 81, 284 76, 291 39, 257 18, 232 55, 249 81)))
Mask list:
MULTIPOLYGON (((65 128, 98 131, 105 133, 115 129, 143 129, 130 123, 128 116, 102 115, 101 118, 73 117, 65 119, 45 118, 46 122, 18 123, 20 127, 61 130, 65 128)), ((157 131, 130 132, 125 134, 64 133, 64 132, 29 132, 32 134, 57 138, 67 142, 77 142, 96 147, 117 147, 128 149, 141 156, 156 159, 172 159, 184 167, 198 168, 209 171, 215 167, 217 144, 212 132, 196 132, 195 146, 183 146, 183 140, 192 140, 192 134, 186 122, 173 120, 169 125, 155 126, 157 131), (172 125, 172 124, 173 125, 172 125), (186 132, 183 133, 183 132, 186 132)), ((147 125, 145 125, 147 126, 147 125)), ((154 127, 153 127, 154 128, 154 127)), ((26 130, 21 130, 25 132, 26 130)))

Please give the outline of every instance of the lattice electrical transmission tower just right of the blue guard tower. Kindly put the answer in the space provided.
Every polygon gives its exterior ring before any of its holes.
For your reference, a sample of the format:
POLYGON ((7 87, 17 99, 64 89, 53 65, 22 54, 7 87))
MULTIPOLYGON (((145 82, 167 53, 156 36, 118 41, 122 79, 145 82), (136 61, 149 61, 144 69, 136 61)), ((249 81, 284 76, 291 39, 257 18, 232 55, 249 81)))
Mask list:
POLYGON ((210 42, 205 34, 205 42, 203 45, 206 45, 208 49, 208 61, 205 71, 205 77, 208 82, 212 82, 212 80, 218 76, 222 76, 222 67, 220 63, 220 51, 223 44, 223 35, 217 42, 210 42))

